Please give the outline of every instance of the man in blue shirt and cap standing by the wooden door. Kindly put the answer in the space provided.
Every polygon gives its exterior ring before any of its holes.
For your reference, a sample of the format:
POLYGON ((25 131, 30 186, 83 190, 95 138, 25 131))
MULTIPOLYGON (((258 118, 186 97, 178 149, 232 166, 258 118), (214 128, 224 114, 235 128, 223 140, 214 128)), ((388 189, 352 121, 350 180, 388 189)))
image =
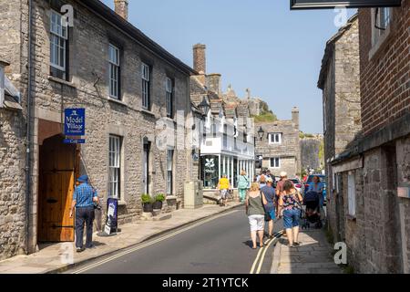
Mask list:
POLYGON ((70 218, 73 217, 74 208, 76 208, 76 247, 77 253, 81 253, 84 251, 84 224, 87 225, 86 248, 93 247, 94 203, 98 203, 99 199, 96 190, 88 184, 87 175, 79 177, 77 182, 80 185, 77 186, 73 195, 70 218))

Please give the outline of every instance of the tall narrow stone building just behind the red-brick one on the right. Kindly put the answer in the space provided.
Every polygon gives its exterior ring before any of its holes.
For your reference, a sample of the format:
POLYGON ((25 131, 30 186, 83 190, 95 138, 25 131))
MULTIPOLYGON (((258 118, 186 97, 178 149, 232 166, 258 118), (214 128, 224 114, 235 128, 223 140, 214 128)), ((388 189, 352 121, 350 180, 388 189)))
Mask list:
POLYGON ((343 193, 336 191, 336 177, 331 162, 346 150, 362 129, 357 15, 349 19, 347 24, 328 40, 318 88, 323 90, 324 161, 329 193, 328 218, 335 238, 340 241, 344 230, 343 202, 347 200, 343 197, 343 193))

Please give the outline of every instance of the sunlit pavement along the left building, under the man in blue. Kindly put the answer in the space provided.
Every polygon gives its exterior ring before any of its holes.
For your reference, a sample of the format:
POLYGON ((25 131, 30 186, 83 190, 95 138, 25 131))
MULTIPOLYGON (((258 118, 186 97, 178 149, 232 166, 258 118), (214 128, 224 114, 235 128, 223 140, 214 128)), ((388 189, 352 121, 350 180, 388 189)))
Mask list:
POLYGON ((0 274, 44 274, 62 273, 69 268, 84 265, 102 256, 126 250, 134 245, 150 240, 182 226, 195 223, 216 214, 226 213, 240 206, 230 203, 228 207, 204 205, 200 209, 180 209, 172 213, 171 219, 164 221, 137 221, 119 226, 121 232, 111 237, 93 237, 93 249, 77 254, 74 243, 42 245, 36 254, 17 255, 0 262, 0 274))

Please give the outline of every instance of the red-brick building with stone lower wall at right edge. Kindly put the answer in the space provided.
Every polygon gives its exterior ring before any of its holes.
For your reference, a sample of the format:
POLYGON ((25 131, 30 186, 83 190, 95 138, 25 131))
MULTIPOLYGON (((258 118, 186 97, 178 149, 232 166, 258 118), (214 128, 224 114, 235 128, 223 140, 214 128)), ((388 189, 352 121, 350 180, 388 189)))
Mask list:
POLYGON ((356 272, 409 273, 410 1, 359 9, 358 23, 362 130, 328 161, 330 226, 356 272))

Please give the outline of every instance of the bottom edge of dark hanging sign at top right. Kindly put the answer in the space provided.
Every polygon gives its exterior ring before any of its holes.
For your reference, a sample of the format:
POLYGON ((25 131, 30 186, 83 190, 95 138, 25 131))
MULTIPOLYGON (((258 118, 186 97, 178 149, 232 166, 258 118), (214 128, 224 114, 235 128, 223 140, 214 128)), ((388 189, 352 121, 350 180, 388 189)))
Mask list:
POLYGON ((291 9, 390 7, 400 6, 402 0, 291 0, 291 9))

